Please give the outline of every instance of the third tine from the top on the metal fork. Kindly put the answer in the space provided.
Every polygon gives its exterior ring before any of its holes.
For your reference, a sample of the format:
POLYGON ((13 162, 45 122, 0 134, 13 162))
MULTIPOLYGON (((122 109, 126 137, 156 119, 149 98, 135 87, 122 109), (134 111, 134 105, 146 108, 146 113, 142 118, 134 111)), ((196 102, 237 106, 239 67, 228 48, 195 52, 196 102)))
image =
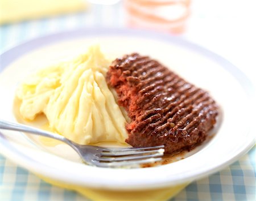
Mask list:
POLYGON ((148 159, 151 157, 160 157, 163 156, 163 153, 153 153, 150 155, 131 155, 125 157, 98 157, 99 161, 113 162, 113 161, 129 161, 129 160, 138 160, 138 159, 148 159))

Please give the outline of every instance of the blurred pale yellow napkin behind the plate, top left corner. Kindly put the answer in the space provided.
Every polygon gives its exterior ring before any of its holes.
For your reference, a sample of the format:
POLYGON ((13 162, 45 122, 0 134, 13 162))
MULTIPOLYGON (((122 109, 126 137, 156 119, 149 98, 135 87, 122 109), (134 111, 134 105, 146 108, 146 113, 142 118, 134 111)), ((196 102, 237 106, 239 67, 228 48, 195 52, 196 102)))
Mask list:
POLYGON ((82 11, 87 5, 82 0, 1 0, 0 24, 82 11))

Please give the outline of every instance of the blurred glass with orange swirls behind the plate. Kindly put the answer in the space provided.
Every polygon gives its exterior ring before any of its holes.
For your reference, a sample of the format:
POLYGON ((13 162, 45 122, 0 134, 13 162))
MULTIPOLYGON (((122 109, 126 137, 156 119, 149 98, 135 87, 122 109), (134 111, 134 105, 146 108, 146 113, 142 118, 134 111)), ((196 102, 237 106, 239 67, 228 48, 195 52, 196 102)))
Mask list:
POLYGON ((182 33, 189 16, 190 0, 123 1, 132 28, 182 33))

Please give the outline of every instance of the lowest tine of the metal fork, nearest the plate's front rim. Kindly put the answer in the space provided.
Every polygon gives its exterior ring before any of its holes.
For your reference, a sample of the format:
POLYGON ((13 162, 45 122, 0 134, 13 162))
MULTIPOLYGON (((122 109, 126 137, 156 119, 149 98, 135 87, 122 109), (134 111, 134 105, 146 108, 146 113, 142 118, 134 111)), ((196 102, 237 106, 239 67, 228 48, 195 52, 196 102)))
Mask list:
POLYGON ((93 164, 102 168, 120 168, 120 167, 131 167, 131 168, 139 168, 139 164, 145 163, 153 163, 156 161, 160 161, 162 158, 150 158, 144 160, 133 160, 133 161, 121 161, 121 162, 100 162, 97 160, 93 160, 93 164))

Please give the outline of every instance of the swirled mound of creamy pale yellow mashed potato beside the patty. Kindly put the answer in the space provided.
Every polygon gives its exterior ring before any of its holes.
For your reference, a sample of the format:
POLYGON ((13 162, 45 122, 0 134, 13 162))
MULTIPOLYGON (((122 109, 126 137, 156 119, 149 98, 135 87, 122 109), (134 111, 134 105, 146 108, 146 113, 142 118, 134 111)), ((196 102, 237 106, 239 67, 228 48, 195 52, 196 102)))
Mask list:
POLYGON ((126 119, 105 80, 109 65, 96 45, 38 71, 18 88, 20 114, 33 120, 44 113, 52 129, 80 144, 124 143, 126 119))

